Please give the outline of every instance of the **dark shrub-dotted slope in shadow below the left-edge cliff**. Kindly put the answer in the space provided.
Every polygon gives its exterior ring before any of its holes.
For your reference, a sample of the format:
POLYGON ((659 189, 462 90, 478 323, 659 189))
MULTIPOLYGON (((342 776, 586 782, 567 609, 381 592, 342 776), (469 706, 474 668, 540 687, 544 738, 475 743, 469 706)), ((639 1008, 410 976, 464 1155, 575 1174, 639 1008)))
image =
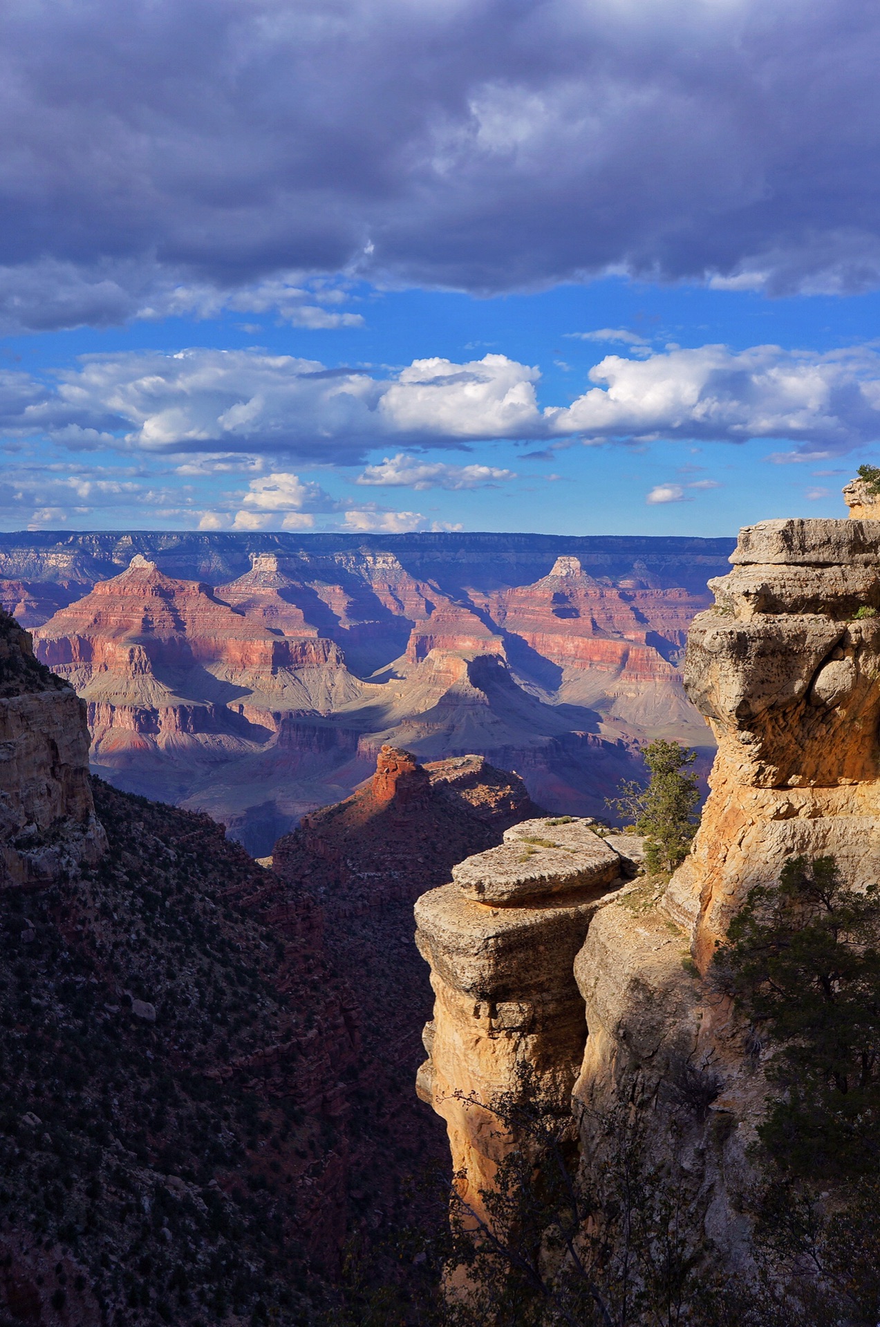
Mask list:
POLYGON ((0 894, 0 1303, 309 1322, 293 1180, 327 1168, 334 1128, 252 1060, 308 1039, 320 1005, 281 994, 284 943, 223 898, 271 877, 206 816, 101 783, 96 803, 97 868, 0 894))

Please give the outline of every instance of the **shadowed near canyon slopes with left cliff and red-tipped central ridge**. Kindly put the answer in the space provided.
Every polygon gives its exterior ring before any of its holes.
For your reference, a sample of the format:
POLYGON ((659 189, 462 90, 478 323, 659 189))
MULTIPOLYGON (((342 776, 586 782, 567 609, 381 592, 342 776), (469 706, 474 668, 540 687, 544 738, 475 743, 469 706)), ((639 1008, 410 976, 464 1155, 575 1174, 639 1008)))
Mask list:
MULTIPOLYGON (((188 608, 207 632, 211 596, 188 608)), ((407 1194, 445 1169, 413 901, 536 812, 524 784, 384 746, 271 871, 90 779, 86 702, 7 614, 0 727, 0 1315, 337 1320, 344 1250, 400 1279, 384 1250, 438 1208, 407 1194)))

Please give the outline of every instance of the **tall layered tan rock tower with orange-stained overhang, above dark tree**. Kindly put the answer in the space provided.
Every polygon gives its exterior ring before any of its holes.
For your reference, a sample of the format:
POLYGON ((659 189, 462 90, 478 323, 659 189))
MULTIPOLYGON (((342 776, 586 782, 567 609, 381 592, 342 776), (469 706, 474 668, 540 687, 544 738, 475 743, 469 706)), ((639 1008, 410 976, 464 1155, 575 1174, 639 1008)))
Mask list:
POLYGON ((711 794, 668 908, 705 970, 747 890, 792 853, 880 867, 880 523, 742 531, 717 605, 692 628, 685 683, 718 740, 711 794))

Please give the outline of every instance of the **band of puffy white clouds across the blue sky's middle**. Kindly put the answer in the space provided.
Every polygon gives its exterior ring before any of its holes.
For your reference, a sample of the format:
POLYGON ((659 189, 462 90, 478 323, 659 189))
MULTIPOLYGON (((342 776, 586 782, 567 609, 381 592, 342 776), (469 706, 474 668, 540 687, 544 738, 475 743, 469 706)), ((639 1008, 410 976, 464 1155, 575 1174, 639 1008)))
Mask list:
MULTIPOLYGON (((254 350, 86 357, 46 385, 0 374, 0 434, 45 434, 72 451, 187 454, 179 474, 259 468, 260 456, 358 464, 372 449, 462 449, 484 439, 792 443, 774 459, 819 459, 880 439, 880 348, 816 353, 723 345, 641 358, 609 354, 567 406, 542 409, 539 370, 503 354, 415 360, 377 377, 254 350), (199 456, 203 454, 203 459, 199 456), (243 458, 235 466, 235 456, 243 458)), ((473 488, 512 478, 491 466, 422 462, 407 451, 358 483, 473 488)), ((260 480, 263 482, 263 480, 260 480)), ((254 503, 256 506, 256 503, 254 503)))

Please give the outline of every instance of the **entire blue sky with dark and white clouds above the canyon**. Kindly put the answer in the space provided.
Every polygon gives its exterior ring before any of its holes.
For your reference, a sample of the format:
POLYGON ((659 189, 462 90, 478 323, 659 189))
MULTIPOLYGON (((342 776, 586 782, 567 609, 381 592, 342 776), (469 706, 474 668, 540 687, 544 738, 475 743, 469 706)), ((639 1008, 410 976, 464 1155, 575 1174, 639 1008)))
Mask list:
POLYGON ((861 0, 9 0, 0 528, 845 515, 879 60, 861 0))

